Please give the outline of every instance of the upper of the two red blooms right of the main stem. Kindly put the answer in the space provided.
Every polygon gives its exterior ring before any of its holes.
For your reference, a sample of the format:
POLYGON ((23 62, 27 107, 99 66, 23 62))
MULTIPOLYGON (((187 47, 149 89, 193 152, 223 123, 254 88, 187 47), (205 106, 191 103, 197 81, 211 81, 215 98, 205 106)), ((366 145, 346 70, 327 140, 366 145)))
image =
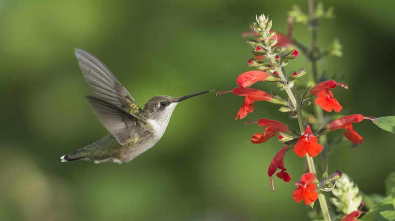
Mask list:
POLYGON ((317 99, 315 99, 314 102, 327 112, 331 112, 332 109, 335 112, 340 112, 341 108, 343 108, 339 101, 333 97, 332 91, 329 89, 335 88, 337 85, 348 88, 347 84, 336 83, 334 80, 329 80, 315 85, 310 90, 312 95, 317 94, 317 99))

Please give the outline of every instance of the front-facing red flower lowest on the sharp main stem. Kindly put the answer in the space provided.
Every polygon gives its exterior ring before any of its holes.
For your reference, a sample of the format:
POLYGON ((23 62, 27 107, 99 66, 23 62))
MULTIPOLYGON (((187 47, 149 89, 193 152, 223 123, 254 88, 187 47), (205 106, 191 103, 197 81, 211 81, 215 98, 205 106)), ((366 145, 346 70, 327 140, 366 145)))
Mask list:
POLYGON ((315 191, 315 184, 312 182, 315 177, 312 173, 307 173, 302 176, 299 183, 296 183, 298 187, 292 194, 296 202, 303 200, 304 204, 308 205, 318 199, 318 193, 315 191))

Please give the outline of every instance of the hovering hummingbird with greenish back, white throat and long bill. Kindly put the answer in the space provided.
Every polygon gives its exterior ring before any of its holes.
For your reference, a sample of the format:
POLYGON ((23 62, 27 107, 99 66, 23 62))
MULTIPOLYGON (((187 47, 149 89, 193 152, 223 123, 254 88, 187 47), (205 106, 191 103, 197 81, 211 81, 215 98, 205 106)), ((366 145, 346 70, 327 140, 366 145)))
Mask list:
POLYGON ((141 109, 111 71, 92 53, 75 48, 78 66, 93 91, 87 96, 92 111, 110 132, 103 139, 60 157, 62 162, 85 159, 129 162, 159 141, 176 105, 202 91, 182 97, 154 96, 141 109))

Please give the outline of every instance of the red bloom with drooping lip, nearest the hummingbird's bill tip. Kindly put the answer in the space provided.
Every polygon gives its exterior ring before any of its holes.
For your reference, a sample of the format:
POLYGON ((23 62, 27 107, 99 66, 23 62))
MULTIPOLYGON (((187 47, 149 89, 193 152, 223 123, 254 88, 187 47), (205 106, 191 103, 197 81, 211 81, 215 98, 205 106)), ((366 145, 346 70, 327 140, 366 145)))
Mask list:
POLYGON ((221 95, 223 93, 228 93, 232 92, 235 95, 238 96, 246 96, 244 100, 243 106, 239 109, 238 114, 236 114, 236 118, 238 119, 240 116, 240 119, 243 119, 247 116, 248 113, 251 113, 254 111, 254 105, 253 103, 255 101, 268 101, 273 99, 273 96, 270 94, 258 90, 258 89, 253 89, 253 88, 241 88, 241 87, 236 87, 231 91, 219 91, 217 92, 217 95, 221 95))

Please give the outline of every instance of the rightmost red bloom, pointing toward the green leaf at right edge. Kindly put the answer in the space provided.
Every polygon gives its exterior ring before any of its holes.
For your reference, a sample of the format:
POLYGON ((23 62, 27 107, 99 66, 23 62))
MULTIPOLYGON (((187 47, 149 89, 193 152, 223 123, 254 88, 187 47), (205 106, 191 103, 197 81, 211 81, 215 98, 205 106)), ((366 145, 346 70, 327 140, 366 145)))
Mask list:
POLYGON ((357 132, 354 131, 351 123, 359 123, 364 119, 365 119, 364 116, 358 114, 342 117, 331 122, 328 125, 328 129, 329 130, 344 129, 346 130, 344 132, 345 138, 347 138, 348 140, 350 140, 355 144, 360 144, 360 143, 363 144, 364 143, 363 138, 357 132))

